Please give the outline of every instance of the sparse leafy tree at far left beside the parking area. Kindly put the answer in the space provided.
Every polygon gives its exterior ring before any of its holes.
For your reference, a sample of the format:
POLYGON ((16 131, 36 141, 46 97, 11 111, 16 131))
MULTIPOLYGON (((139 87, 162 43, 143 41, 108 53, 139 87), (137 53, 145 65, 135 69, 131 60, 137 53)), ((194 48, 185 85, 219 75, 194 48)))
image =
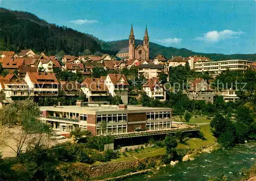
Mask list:
POLYGON ((49 134, 52 132, 51 128, 39 121, 40 109, 32 99, 11 104, 10 109, 11 112, 4 109, 3 114, 1 114, 1 122, 4 122, 3 119, 5 118, 9 120, 13 118, 13 122, 16 122, 17 125, 2 134, 3 139, 0 140, 0 144, 11 148, 16 156, 22 153, 25 146, 38 146, 42 142, 42 137, 47 136, 49 138, 49 134), (8 116, 10 113, 11 116, 8 116))

